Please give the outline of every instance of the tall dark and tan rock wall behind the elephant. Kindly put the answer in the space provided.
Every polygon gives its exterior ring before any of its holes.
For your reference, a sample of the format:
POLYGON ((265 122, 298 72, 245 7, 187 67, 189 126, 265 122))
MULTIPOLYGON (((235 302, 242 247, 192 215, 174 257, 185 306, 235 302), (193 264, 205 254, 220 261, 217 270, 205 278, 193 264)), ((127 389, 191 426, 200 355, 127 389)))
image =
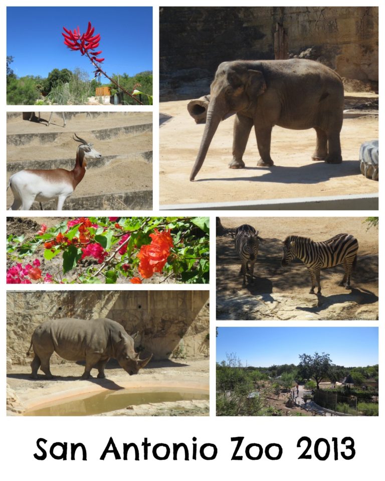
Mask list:
POLYGON ((163 101, 208 94, 221 62, 274 59, 277 22, 287 32, 289 57, 378 82, 377 7, 164 7, 159 22, 163 101))

